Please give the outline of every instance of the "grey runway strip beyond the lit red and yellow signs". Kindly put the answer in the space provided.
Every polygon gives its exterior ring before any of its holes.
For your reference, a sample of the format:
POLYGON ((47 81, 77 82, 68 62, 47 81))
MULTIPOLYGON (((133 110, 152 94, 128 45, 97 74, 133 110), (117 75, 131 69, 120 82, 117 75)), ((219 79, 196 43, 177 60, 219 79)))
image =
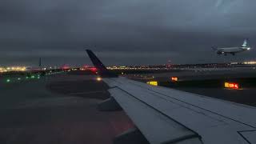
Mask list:
POLYGON ((180 81, 184 80, 202 80, 214 78, 256 78, 256 68, 237 67, 237 68, 202 68, 180 70, 178 72, 168 73, 150 73, 150 74, 129 74, 126 77, 140 80, 158 80, 162 82, 170 81, 170 77, 178 77, 180 81))

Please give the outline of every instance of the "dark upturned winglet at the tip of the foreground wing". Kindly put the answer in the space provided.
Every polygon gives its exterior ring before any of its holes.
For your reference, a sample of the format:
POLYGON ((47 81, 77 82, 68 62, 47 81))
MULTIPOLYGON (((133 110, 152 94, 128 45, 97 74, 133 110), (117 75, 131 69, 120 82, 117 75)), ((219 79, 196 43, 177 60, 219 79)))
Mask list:
POLYGON ((86 50, 86 52, 89 55, 91 62, 93 62, 94 66, 97 68, 98 74, 100 76, 105 78, 118 77, 118 75, 110 73, 110 70, 106 69, 106 66, 103 65, 103 63, 97 58, 93 51, 86 50))

